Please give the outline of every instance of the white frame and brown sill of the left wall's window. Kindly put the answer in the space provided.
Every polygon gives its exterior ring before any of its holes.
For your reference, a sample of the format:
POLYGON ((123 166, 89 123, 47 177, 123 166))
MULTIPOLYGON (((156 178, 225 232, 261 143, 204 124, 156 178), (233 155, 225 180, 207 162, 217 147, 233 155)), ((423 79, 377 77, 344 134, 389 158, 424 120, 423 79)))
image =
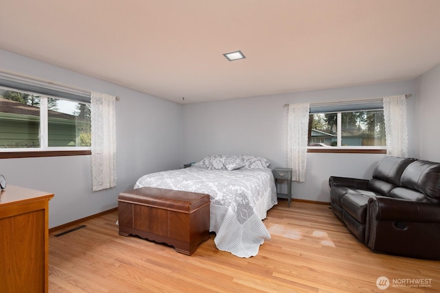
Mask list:
POLYGON ((47 99, 53 98, 58 100, 66 100, 77 102, 80 104, 90 104, 84 100, 68 99, 54 95, 47 95, 36 93, 33 91, 24 91, 22 89, 15 89, 9 86, 0 85, 0 89, 6 91, 15 91, 26 93, 28 95, 38 95, 40 98, 40 124, 39 124, 39 148, 0 148, 0 159, 12 158, 30 158, 30 157, 45 157, 45 156, 79 156, 91 155, 91 146, 89 147, 50 147, 49 141, 49 113, 47 109, 47 99))

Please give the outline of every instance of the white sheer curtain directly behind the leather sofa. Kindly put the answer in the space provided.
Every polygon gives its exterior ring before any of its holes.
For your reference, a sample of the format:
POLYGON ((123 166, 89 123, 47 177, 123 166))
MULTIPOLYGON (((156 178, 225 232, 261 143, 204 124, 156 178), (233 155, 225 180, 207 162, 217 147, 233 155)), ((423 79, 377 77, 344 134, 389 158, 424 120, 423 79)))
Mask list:
POLYGON ((384 97, 384 119, 387 156, 408 156, 408 127, 406 124, 406 97, 384 97))

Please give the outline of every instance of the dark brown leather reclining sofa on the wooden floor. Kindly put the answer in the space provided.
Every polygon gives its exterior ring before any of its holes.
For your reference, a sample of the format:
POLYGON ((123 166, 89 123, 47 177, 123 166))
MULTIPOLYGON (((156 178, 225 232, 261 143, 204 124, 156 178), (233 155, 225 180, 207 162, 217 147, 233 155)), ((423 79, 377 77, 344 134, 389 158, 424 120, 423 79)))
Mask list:
POLYGON ((386 156, 371 180, 329 185, 333 213, 371 250, 440 259, 440 163, 386 156))

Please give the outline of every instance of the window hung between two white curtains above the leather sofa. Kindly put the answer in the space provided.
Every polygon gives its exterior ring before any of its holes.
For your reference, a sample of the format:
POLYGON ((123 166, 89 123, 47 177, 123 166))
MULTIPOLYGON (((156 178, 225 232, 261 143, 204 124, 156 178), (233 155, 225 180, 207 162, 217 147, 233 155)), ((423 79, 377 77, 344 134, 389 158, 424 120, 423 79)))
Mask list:
POLYGON ((383 104, 370 101, 311 106, 308 143, 311 149, 385 149, 383 104))

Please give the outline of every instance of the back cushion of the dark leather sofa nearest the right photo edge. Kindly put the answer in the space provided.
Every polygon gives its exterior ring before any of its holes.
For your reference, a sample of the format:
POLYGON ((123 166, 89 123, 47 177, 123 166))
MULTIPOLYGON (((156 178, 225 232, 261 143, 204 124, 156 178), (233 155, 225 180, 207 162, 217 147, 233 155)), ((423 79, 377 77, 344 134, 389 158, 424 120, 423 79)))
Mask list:
POLYGON ((425 195, 425 201, 440 203, 440 163, 415 161, 401 175, 400 186, 425 195))

